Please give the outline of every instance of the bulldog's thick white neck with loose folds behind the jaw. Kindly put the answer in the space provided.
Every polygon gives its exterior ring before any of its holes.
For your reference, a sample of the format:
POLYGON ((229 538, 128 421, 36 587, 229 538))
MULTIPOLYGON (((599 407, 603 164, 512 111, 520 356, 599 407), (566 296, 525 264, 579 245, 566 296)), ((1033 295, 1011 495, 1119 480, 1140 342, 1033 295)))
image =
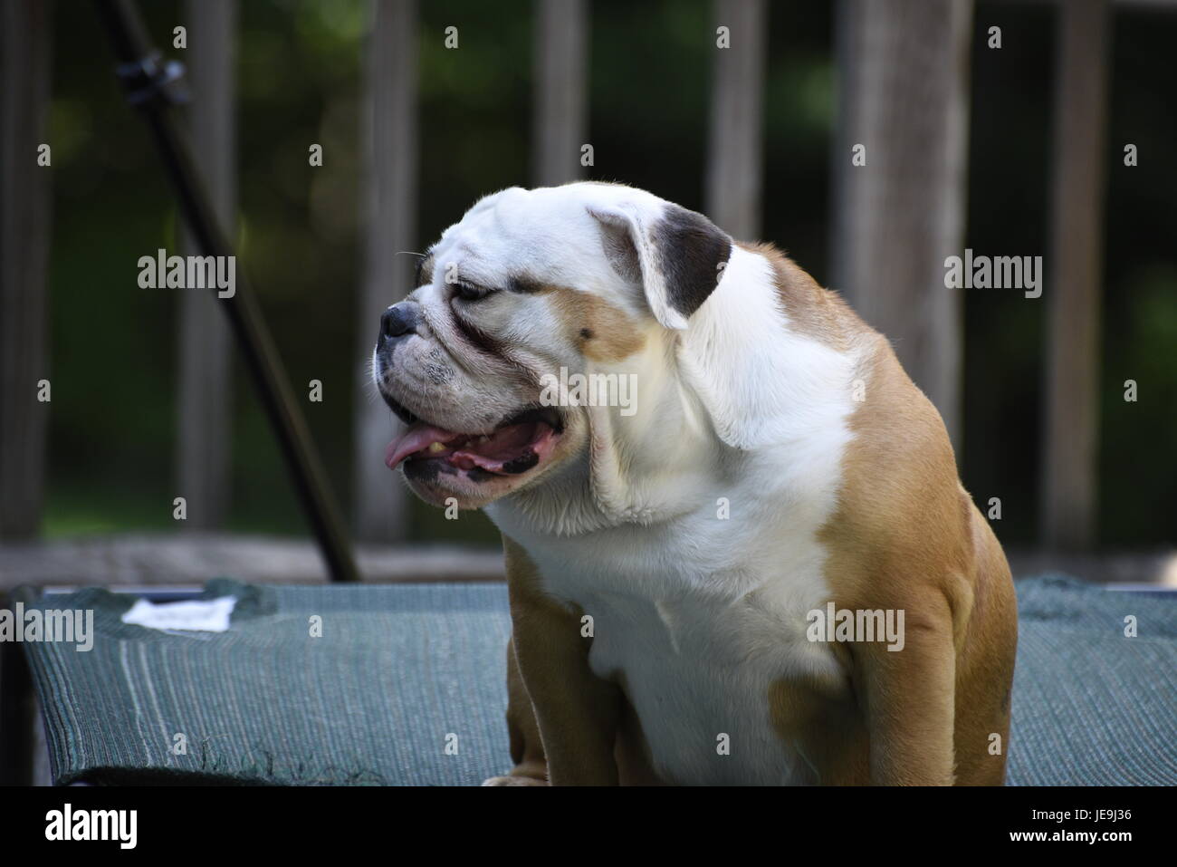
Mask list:
POLYGON ((640 358, 639 411, 584 408, 588 442, 550 478, 487 508, 500 528, 574 536, 713 509, 760 462, 766 484, 791 446, 849 413, 853 360, 789 327, 771 263, 736 247, 685 331, 656 330, 640 358), (745 474, 746 475, 746 474, 745 474))

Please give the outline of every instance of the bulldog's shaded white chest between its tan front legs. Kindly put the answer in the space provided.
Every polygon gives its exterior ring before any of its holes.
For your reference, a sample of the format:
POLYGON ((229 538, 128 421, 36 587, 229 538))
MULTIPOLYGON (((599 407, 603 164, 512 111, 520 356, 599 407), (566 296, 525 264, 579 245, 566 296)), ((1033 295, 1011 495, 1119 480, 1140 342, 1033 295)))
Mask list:
POLYGON ((782 682, 833 699, 845 689, 830 647, 806 637, 806 614, 830 598, 818 543, 786 535, 734 557, 729 538, 710 561, 657 535, 609 535, 539 550, 537 565, 591 618, 590 666, 625 690, 656 770, 676 783, 809 781, 770 694, 782 682))

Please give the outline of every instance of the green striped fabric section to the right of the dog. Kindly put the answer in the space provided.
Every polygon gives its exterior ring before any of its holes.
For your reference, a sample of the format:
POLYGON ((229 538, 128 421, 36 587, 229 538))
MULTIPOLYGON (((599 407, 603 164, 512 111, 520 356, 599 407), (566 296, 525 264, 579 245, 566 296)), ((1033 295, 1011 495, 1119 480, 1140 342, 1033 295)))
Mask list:
POLYGON ((1177 594, 1017 582, 1006 782, 1177 783, 1177 594), (1135 617, 1136 637, 1124 635, 1135 617))

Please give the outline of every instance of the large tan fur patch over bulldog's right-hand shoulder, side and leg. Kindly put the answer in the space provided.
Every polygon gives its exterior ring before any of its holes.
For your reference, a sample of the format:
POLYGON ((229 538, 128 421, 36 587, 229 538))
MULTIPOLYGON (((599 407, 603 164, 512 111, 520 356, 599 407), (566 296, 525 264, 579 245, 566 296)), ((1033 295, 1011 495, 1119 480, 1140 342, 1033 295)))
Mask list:
POLYGON ((890 344, 869 333, 865 399, 820 538, 838 608, 905 611, 903 650, 851 646, 871 779, 1000 783, 1017 638, 1009 567, 960 487, 939 413, 890 344), (990 755, 991 734, 999 755, 990 755))

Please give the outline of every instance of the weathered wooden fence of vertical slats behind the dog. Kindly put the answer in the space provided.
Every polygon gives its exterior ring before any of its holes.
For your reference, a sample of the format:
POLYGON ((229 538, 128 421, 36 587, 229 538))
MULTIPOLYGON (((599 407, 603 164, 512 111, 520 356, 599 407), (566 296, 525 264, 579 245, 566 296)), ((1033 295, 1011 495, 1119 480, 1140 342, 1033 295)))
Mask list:
MULTIPOLYGON (((47 378, 45 273, 49 172, 35 165, 49 100, 48 5, 2 4, 0 46, 0 538, 36 534, 44 501, 47 378), (13 81, 27 86, 12 86, 13 81)), ((233 73, 237 0, 187 0, 198 153, 221 219, 234 219, 233 73), (198 38, 199 34, 199 38, 198 38)), ((766 0, 714 0, 713 85, 704 179, 706 210, 738 238, 760 225, 766 0)), ((970 47, 984 39, 972 0, 838 0, 838 130, 833 139, 833 285, 895 342, 912 378, 960 434, 960 294, 944 289, 944 258, 964 246, 970 47), (852 165, 865 144, 867 167, 852 165)), ((581 177, 587 130, 588 0, 537 0, 533 177, 581 177)), ((1103 135, 1109 70, 1105 0, 1057 5, 1055 160, 1045 336, 1044 542, 1082 549, 1092 541, 1097 487, 1097 383, 1103 135)), ((418 250, 417 0, 371 0, 365 143, 366 243, 359 286, 360 344, 380 311, 411 289, 418 250)), ((443 34, 437 34, 438 39, 443 34)), ((787 153, 767 159, 789 159, 787 153)), ((220 524, 228 501, 230 383, 225 325, 204 297, 180 307, 177 476, 193 528, 220 524), (215 363, 210 363, 211 359, 215 363)), ((364 355, 355 348, 357 358, 364 355)), ((353 522, 366 541, 401 538, 400 485, 371 471, 393 424, 363 395, 355 401, 353 522)))

